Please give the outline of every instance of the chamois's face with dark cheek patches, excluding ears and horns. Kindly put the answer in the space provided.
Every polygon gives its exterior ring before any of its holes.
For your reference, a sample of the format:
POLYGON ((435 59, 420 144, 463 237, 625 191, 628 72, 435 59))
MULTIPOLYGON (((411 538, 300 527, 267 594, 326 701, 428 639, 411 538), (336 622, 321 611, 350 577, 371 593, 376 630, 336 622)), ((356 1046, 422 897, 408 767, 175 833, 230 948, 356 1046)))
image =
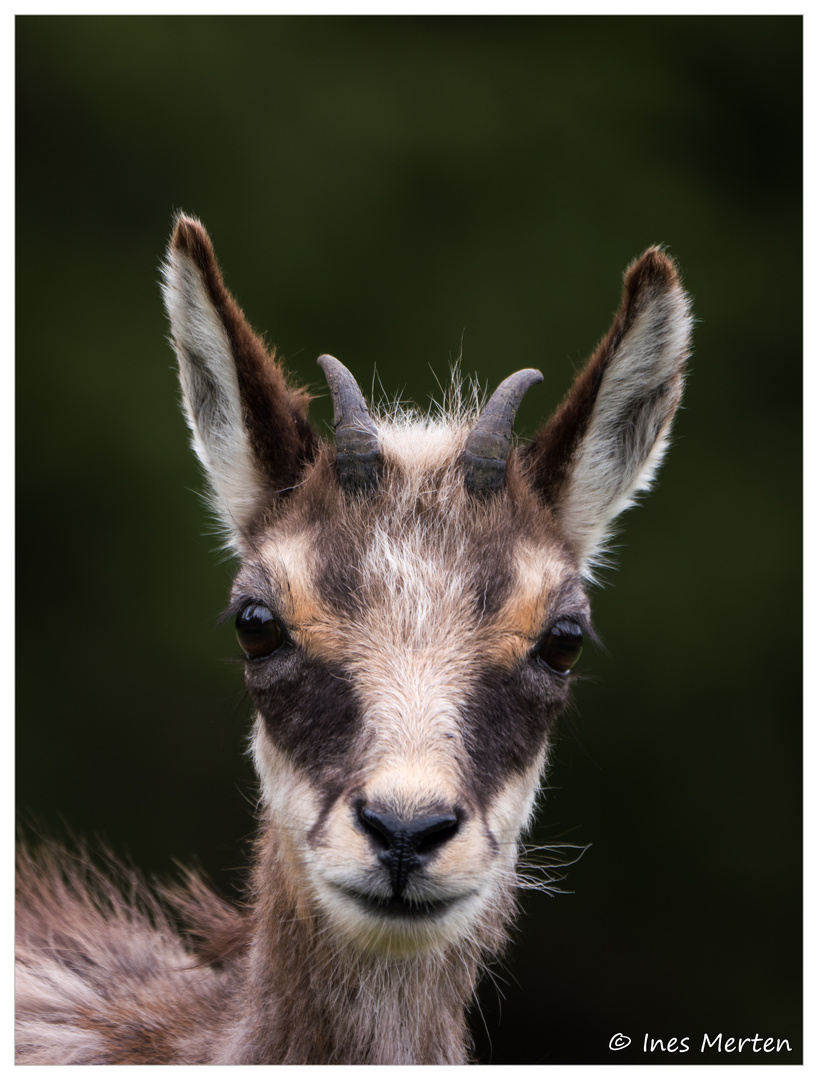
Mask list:
POLYGON ((454 940, 506 897, 588 625, 536 499, 466 491, 467 432, 385 423, 366 499, 317 464, 233 586, 268 812, 374 949, 454 940))

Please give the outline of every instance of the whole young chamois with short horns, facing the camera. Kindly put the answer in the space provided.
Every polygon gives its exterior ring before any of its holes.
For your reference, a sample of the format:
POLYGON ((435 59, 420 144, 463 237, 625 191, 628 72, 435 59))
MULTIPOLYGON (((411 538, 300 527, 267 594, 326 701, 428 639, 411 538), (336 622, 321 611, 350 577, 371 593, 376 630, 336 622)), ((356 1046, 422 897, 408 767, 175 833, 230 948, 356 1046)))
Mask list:
POLYGON ((629 267, 611 330, 525 446, 512 426, 538 372, 482 409, 455 390, 440 415, 380 416, 328 355, 335 441, 319 437, 196 218, 175 220, 163 295, 239 559, 227 613, 260 791, 247 895, 233 908, 191 875, 157 899, 86 856, 24 852, 17 1059, 465 1063, 592 633, 586 584, 681 397, 679 274, 657 247, 629 267))

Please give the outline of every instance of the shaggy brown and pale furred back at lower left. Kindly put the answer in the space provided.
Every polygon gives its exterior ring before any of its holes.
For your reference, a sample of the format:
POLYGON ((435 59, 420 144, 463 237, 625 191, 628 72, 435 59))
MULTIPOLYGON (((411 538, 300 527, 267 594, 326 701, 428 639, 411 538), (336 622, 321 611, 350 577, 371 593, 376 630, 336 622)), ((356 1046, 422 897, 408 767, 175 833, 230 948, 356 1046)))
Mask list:
MULTIPOLYGON (((241 917, 197 879, 183 919, 199 935, 241 917)), ((24 852, 17 877, 17 1054, 27 1065, 206 1062, 234 998, 230 964, 210 964, 131 873, 84 853, 24 852)))

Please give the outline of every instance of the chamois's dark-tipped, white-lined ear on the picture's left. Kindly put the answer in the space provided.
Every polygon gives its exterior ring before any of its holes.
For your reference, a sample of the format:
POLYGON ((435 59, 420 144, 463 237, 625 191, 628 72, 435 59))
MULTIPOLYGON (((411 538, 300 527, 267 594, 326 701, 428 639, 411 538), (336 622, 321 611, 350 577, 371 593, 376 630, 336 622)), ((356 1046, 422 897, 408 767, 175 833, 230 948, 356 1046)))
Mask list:
POLYGON ((201 221, 178 215, 163 275, 193 447, 242 550, 262 507, 296 483, 316 451, 309 396, 286 386, 228 293, 201 221))

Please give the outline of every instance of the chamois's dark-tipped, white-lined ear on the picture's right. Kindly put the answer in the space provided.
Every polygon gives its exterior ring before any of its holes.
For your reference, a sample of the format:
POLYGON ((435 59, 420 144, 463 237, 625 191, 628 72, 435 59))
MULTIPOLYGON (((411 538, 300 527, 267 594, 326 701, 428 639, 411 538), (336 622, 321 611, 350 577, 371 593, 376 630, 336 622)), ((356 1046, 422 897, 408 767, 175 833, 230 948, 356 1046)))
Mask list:
POLYGON ((614 518, 651 486, 661 461, 692 323, 673 261, 649 248, 626 271, 614 325, 523 453, 587 576, 614 518))

